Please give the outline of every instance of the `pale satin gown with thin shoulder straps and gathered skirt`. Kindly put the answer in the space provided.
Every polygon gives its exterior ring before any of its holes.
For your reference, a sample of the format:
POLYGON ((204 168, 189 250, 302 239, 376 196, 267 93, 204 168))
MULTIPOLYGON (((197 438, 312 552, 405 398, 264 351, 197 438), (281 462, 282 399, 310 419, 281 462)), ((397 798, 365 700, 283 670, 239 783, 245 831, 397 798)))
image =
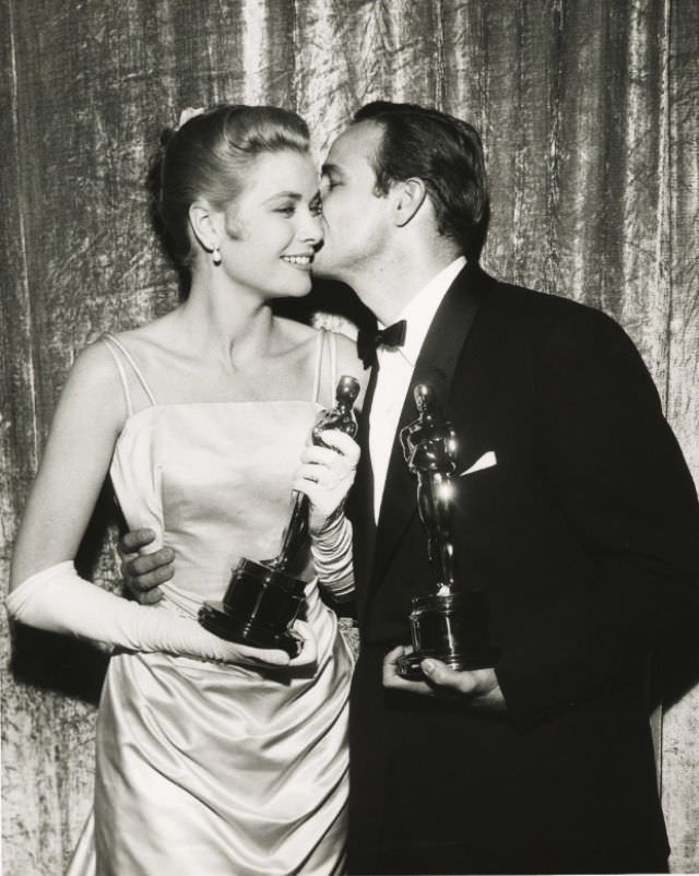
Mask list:
MULTIPOLYGON (((308 401, 158 404, 111 335, 129 416, 111 463, 130 529, 175 552, 159 611, 196 617, 241 557, 277 555, 291 482, 321 407, 308 401), (150 404, 134 412, 128 369, 150 404)), ((333 383, 334 383, 334 375, 333 383)), ((94 818, 69 876, 334 874, 344 864, 353 661, 312 567, 311 667, 261 670, 115 653, 97 722, 94 818)))

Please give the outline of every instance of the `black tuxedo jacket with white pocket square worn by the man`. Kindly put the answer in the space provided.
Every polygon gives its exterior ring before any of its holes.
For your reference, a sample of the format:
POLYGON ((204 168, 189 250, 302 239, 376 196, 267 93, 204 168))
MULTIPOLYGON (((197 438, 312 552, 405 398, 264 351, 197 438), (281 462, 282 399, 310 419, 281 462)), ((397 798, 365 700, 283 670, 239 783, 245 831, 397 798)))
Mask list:
POLYGON ((399 429, 422 381, 457 426, 460 471, 496 454, 455 481, 454 551, 460 580, 487 593, 507 717, 382 687, 431 577, 398 439, 374 525, 365 429, 348 502, 351 872, 662 871, 644 675, 651 649, 697 617, 699 510, 650 376, 603 313, 466 267, 399 429))

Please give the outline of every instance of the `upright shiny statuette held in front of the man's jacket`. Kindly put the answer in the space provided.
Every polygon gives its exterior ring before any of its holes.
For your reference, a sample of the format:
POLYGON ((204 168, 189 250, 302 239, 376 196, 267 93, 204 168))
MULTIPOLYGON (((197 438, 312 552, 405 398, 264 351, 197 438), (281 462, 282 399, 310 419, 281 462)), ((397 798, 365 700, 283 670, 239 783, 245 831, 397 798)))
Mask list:
POLYGON ((457 583, 453 545, 453 477, 459 442, 453 425, 442 419, 430 387, 414 390, 417 419, 401 429, 403 454, 417 478, 417 510, 427 531, 427 555, 434 582, 413 596, 413 652, 398 661, 403 678, 424 679, 420 661, 436 658, 453 670, 494 666, 499 649, 489 642, 488 605, 483 591, 457 583))

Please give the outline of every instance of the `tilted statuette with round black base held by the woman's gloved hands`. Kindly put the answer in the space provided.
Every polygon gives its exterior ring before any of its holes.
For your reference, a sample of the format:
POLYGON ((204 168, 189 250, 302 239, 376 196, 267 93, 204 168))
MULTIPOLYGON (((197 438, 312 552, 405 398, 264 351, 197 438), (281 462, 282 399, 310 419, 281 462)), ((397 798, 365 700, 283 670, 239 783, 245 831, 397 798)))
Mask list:
MULTIPOLYGON (((334 407, 323 412, 312 428, 315 445, 323 445, 325 429, 341 429, 354 438, 357 421, 353 405, 358 392, 354 377, 340 378, 334 407)), ((306 583, 291 575, 288 567, 308 537, 308 497, 295 492, 280 554, 274 559, 242 558, 238 563, 223 601, 205 602, 199 611, 199 623, 205 629, 228 641, 279 648, 292 658, 299 653, 303 640, 292 625, 304 603, 306 583)))

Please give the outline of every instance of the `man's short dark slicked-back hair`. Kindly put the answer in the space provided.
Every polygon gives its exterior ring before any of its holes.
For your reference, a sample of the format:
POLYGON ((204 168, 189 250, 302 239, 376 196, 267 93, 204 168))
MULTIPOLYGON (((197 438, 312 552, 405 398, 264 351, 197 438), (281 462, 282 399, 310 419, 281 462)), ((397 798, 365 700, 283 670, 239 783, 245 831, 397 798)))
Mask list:
POLYGON ((416 177, 427 188, 440 234, 477 262, 490 214, 488 181, 478 132, 465 121, 416 104, 375 100, 354 121, 383 129, 372 157, 377 193, 416 177))

